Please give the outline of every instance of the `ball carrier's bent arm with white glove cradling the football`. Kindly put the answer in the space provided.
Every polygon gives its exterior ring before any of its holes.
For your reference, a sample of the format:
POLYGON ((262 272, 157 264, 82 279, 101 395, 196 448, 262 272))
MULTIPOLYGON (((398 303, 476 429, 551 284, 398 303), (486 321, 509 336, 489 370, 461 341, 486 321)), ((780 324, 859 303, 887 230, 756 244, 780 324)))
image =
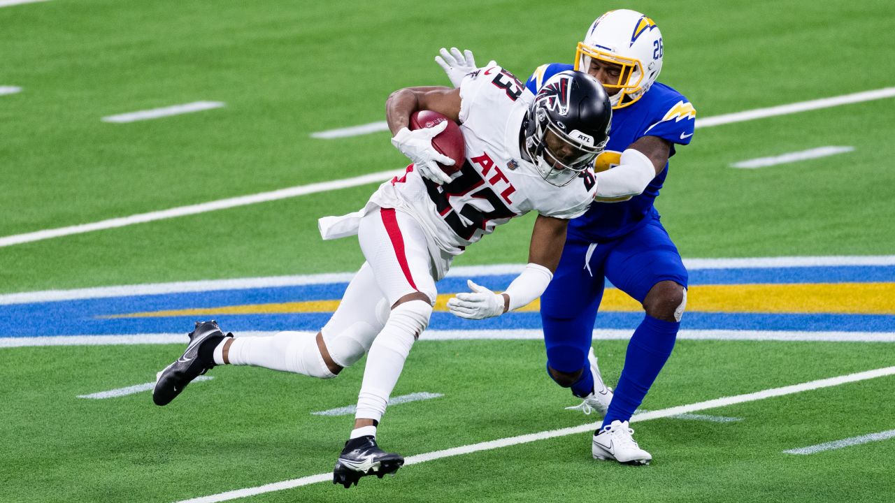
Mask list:
POLYGON ((407 128, 410 115, 417 110, 439 112, 457 122, 460 115, 460 90, 444 87, 405 88, 393 92, 386 101, 388 129, 394 135, 392 145, 413 161, 413 166, 420 175, 435 183, 450 183, 451 177, 441 171, 439 163, 453 166, 454 159, 432 147, 432 138, 445 130, 447 122, 410 131, 407 128))

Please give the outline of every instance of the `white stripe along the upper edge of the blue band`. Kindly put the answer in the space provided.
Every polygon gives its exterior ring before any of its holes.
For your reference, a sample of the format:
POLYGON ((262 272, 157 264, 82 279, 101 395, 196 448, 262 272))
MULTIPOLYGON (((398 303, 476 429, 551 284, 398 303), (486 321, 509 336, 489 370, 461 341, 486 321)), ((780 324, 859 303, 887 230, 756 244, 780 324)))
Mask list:
MULTIPOLYGON (((895 266, 895 255, 882 256, 830 256, 830 257, 760 257, 753 259, 684 259, 686 269, 767 269, 836 266, 895 266)), ((519 274, 524 264, 499 264, 492 266, 458 266, 447 272, 447 277, 502 276, 519 274)), ((99 299, 130 295, 183 294, 211 290, 238 290, 276 286, 321 285, 347 283, 354 272, 311 274, 297 276, 244 277, 238 279, 212 279, 207 281, 180 281, 176 283, 149 283, 145 285, 98 286, 74 290, 43 290, 19 294, 0 294, 0 305, 18 303, 45 303, 77 299, 99 299)))

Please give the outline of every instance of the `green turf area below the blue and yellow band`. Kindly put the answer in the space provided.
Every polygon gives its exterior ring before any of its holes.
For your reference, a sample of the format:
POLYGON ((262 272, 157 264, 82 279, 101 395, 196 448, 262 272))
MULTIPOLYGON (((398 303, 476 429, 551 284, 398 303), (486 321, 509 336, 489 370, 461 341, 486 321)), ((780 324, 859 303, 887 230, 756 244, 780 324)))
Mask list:
MULTIPOLYGON (((888 348, 888 346, 885 346, 888 348)), ((213 370, 166 407, 149 392, 77 395, 150 380, 182 346, 4 350, 0 433, 4 501, 175 501, 331 470, 352 416, 311 412, 354 403, 362 365, 331 381, 255 368, 213 370), (61 360, 64 358, 64 360, 61 360), (64 362, 78 362, 64 364, 64 362), (127 362, 122 365, 121 362, 127 362), (52 379, 47 379, 52 376, 52 379), (40 383, 40 384, 38 384, 40 383)), ((623 341, 601 341, 601 367, 618 379, 623 341)), ((691 404, 895 364, 881 345, 681 341, 644 408, 691 404), (712 362, 711 365, 706 362, 712 362), (816 364, 823 362, 823 364, 816 364)), ((416 345, 395 391, 443 393, 396 405, 379 431, 405 456, 588 422, 543 372, 537 341, 416 345), (505 355, 495 358, 495 355, 505 355), (457 379, 457 376, 464 379, 457 379)), ((895 443, 813 456, 781 451, 891 429, 895 405, 875 399, 891 377, 732 405, 712 423, 635 423, 655 458, 647 468, 595 462, 589 434, 406 466, 350 491, 328 482, 252 501, 518 501, 575 495, 617 501, 882 501, 891 495, 895 443), (774 492, 769 494, 769 491, 774 492), (790 491, 796 491, 793 494, 790 491), (780 499, 775 499, 777 497, 780 499)))

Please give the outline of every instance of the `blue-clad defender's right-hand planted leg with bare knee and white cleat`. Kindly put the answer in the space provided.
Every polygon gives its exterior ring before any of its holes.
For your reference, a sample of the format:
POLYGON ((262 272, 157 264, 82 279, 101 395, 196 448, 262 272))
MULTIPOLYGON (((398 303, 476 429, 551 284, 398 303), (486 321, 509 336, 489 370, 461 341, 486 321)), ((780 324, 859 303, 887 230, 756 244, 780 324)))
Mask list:
MULTIPOLYGON (((635 464, 648 463, 649 453, 631 439, 628 421, 671 355, 686 304, 687 273, 677 247, 658 219, 619 240, 606 260, 606 277, 644 305, 644 320, 627 345, 625 366, 601 431, 601 445, 627 444, 627 452, 607 453, 594 437, 594 456, 635 464), (618 438, 616 438, 618 437, 618 438), (631 443, 628 443, 627 440, 631 443), (600 451, 598 453, 598 451, 600 451), (625 457, 626 460, 619 457, 625 457)), ((624 450, 624 449, 623 449, 624 450)))

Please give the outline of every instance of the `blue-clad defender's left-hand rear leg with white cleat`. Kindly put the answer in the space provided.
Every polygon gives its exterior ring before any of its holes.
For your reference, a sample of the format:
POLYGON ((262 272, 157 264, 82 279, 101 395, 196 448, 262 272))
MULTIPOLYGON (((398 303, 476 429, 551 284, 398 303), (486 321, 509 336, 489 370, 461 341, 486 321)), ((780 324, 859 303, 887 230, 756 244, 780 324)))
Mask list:
POLYGON ((550 286, 541 295, 547 372, 559 386, 585 398, 586 413, 591 408, 605 413, 611 400, 591 348, 603 294, 604 253, 596 244, 568 239, 550 286))

